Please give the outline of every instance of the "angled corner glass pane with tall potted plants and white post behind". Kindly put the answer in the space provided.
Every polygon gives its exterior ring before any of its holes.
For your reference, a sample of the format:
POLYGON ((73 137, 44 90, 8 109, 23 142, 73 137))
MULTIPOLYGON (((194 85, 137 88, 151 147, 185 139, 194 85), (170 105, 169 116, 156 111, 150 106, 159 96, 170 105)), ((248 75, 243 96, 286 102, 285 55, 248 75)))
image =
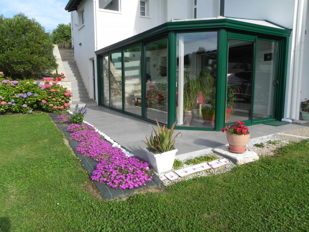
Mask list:
POLYGON ((214 127, 217 32, 177 34, 177 125, 214 127))

